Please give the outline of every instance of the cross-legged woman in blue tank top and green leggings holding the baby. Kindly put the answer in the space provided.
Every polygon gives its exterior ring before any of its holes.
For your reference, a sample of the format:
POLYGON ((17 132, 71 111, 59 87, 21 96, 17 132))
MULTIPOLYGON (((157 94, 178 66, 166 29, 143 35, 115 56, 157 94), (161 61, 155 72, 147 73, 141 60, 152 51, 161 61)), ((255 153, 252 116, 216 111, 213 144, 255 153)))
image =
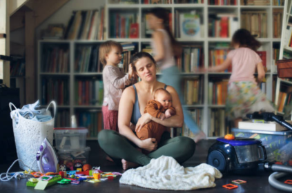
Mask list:
POLYGON ((138 165, 147 165, 151 159, 159 156, 171 156, 178 163, 183 163, 191 158, 195 152, 195 142, 186 136, 176 136, 171 139, 169 128, 181 128, 184 115, 179 96, 171 86, 156 80, 156 63, 153 57, 146 52, 139 52, 132 59, 133 71, 141 81, 124 90, 119 103, 118 125, 119 133, 113 130, 101 130, 98 135, 100 147, 114 161, 121 161, 124 170, 138 165), (147 102, 153 99, 153 94, 158 88, 165 88, 173 100, 176 114, 163 121, 159 118, 143 113, 147 102), (140 140, 135 134, 149 121, 155 121, 168 127, 162 134, 160 142, 154 138, 140 140), (131 126, 130 126, 131 125, 131 126), (137 150, 141 148, 150 152, 143 154, 137 150))

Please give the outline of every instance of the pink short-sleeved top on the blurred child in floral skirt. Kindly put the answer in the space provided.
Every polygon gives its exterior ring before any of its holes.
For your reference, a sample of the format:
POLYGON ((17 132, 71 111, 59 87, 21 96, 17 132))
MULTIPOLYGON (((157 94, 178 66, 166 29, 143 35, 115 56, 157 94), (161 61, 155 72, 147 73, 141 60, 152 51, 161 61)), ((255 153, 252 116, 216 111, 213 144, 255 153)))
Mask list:
POLYGON ((255 68, 262 59, 249 48, 237 48, 227 54, 227 58, 232 59, 232 74, 229 82, 253 81, 255 82, 255 68))

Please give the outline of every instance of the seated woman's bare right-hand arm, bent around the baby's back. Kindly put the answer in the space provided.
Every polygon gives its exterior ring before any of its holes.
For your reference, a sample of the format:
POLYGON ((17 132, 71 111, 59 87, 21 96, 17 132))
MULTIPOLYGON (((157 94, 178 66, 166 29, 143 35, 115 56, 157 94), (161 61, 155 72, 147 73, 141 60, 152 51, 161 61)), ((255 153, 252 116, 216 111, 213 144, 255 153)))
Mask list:
POLYGON ((167 86, 166 90, 171 93, 171 97, 173 100, 173 108, 176 110, 176 114, 171 116, 169 119, 164 119, 163 121, 159 118, 155 118, 150 116, 150 114, 145 113, 139 119, 136 125, 136 131, 139 131, 146 123, 149 121, 155 121, 156 123, 162 124, 168 128, 182 128, 184 125, 184 114, 182 113, 182 104, 179 101, 179 96, 175 89, 171 86, 167 86))

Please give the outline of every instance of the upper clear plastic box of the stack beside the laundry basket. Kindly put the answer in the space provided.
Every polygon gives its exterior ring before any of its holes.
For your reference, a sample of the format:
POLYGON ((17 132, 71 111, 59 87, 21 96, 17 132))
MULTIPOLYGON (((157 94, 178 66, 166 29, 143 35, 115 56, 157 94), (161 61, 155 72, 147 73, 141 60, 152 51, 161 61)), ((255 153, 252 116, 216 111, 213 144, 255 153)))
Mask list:
POLYGON ((86 128, 54 128, 57 150, 83 150, 86 145, 86 128))

